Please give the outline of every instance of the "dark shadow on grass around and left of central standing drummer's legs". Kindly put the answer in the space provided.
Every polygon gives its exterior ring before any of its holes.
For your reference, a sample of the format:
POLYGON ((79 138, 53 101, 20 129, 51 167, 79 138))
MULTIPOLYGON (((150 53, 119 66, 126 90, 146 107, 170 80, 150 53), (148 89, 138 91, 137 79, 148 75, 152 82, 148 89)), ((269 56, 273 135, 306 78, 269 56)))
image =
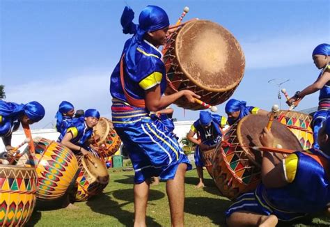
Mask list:
MULTIPOLYGON (((163 198, 164 196, 164 193, 160 191, 150 190, 149 201, 157 200, 163 198)), ((118 221, 124 226, 133 226, 134 212, 129 212, 122 209, 123 206, 128 205, 129 203, 134 203, 134 194, 132 189, 116 190, 107 194, 100 194, 88 200, 86 205, 88 205, 93 212, 109 215, 118 219, 118 221), (118 203, 111 200, 111 194, 114 198, 126 202, 118 203)), ((147 226, 161 226, 150 217, 146 217, 146 224, 147 226)))

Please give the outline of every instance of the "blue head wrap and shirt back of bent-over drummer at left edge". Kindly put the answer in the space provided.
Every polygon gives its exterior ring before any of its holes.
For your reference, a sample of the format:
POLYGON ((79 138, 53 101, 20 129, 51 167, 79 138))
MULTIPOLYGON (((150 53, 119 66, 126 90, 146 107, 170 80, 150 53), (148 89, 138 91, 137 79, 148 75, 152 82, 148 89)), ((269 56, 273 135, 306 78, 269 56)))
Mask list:
POLYGON ((8 118, 18 118, 21 114, 25 114, 30 120, 38 122, 45 116, 45 109, 36 101, 17 104, 0 100, 0 115, 8 118))

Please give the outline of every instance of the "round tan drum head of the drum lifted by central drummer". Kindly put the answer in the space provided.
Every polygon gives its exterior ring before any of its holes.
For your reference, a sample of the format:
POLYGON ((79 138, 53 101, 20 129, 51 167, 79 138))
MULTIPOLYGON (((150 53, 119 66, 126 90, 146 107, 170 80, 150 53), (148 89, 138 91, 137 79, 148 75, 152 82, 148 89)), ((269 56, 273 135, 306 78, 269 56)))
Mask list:
POLYGON ((175 39, 175 55, 184 74, 207 91, 235 88, 244 75, 239 43, 214 22, 195 20, 184 25, 175 39))

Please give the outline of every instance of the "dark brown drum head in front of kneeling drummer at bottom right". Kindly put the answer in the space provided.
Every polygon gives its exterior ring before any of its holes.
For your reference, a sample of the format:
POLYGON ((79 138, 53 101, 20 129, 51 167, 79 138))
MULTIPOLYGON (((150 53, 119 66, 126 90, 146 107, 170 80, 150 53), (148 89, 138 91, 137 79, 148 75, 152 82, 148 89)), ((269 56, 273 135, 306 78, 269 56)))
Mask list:
MULTIPOLYGON (((262 132, 263 128, 267 126, 268 120, 269 118, 267 116, 249 115, 242 118, 237 125, 239 144, 243 146, 242 148, 249 159, 256 164, 261 163, 262 152, 249 147, 262 146, 259 134, 262 132)), ((274 136, 274 146, 280 144, 283 149, 303 150, 297 137, 294 136, 285 125, 274 120, 271 130, 274 136)))

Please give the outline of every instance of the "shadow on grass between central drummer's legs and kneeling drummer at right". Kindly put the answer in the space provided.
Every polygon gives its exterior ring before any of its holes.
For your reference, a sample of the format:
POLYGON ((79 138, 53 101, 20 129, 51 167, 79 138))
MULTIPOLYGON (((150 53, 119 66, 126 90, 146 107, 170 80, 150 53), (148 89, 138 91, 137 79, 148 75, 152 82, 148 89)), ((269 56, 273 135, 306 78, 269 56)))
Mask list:
POLYGON ((184 212, 208 217, 214 224, 224 226, 226 224, 225 211, 231 203, 221 198, 187 197, 184 200, 184 212))

